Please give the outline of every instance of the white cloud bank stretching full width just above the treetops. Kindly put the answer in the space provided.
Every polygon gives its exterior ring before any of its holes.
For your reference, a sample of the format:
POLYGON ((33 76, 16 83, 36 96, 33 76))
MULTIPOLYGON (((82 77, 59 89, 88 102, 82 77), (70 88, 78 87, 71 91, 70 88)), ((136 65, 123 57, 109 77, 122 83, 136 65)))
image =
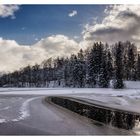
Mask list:
MULTIPOLYGON (((14 40, 0 38, 0 71, 17 70, 28 64, 40 63, 49 57, 69 56, 80 48, 87 48, 93 41, 115 43, 119 40, 130 40, 139 46, 139 11, 140 5, 109 6, 105 9, 106 16, 101 23, 96 21, 85 25, 82 32, 83 40, 79 43, 60 34, 41 39, 31 46, 19 45, 14 40)), ((33 36, 37 41, 36 36, 33 36)), ((76 39, 77 36, 74 38, 76 39)))

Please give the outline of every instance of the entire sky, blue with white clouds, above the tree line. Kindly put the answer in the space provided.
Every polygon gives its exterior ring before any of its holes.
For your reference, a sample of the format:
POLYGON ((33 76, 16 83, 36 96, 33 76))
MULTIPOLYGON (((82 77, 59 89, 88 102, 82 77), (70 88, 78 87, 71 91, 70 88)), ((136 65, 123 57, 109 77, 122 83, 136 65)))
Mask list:
POLYGON ((0 72, 70 56, 94 41, 140 45, 140 5, 0 5, 0 72))

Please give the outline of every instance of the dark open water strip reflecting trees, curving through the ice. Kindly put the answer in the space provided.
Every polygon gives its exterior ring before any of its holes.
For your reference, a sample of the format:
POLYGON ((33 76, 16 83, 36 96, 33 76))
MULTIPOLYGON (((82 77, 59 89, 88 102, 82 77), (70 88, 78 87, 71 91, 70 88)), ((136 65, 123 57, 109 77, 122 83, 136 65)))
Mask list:
POLYGON ((131 130, 140 122, 138 113, 107 108, 65 97, 49 97, 49 99, 75 113, 114 127, 131 130))

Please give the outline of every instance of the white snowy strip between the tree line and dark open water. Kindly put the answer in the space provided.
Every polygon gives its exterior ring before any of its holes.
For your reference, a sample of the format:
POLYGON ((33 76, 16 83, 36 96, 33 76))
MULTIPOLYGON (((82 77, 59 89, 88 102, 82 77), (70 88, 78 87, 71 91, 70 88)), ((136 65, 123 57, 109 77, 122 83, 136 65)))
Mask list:
POLYGON ((140 113, 140 82, 125 82, 125 89, 112 88, 0 88, 0 94, 76 97, 108 107, 140 113))

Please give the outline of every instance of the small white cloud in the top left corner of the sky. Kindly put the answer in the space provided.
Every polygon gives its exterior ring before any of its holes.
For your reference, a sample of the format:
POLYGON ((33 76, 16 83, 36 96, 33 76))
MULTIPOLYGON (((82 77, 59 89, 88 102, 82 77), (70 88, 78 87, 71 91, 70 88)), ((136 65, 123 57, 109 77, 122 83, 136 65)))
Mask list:
POLYGON ((18 5, 0 5, 0 17, 6 18, 11 17, 12 19, 15 19, 14 13, 19 10, 18 5))

